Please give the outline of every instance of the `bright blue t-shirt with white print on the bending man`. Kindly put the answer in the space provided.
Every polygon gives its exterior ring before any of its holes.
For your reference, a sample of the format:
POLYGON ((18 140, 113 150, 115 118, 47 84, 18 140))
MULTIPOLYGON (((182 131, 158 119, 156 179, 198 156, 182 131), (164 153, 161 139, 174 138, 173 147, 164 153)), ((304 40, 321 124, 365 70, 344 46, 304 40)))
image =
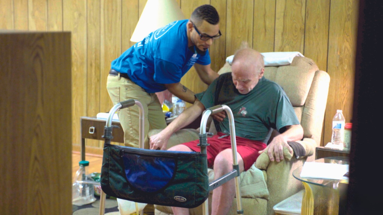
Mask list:
POLYGON ((141 42, 113 60, 111 68, 127 73, 147 93, 166 90, 164 84, 178 83, 195 64, 210 64, 210 55, 188 47, 188 20, 174 21, 150 33, 141 42))

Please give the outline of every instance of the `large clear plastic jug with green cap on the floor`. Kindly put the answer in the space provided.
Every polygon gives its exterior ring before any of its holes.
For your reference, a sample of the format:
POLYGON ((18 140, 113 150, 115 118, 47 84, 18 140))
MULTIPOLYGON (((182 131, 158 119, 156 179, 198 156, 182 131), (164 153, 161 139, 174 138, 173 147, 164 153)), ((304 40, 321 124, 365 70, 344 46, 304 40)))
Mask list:
POLYGON ((80 161, 72 185, 72 204, 81 206, 90 204, 96 200, 94 196, 95 180, 88 176, 89 161, 80 161))

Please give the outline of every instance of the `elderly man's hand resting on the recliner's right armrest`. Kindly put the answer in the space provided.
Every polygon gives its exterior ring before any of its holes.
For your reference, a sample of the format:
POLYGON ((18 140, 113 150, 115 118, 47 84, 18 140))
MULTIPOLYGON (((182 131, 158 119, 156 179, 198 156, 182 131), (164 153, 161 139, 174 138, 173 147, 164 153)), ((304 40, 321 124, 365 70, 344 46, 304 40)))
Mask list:
POLYGON ((272 142, 264 150, 259 151, 259 153, 261 154, 265 150, 268 150, 267 154, 270 160, 274 161, 274 155, 275 155, 275 160, 279 162, 284 159, 283 147, 287 147, 290 153, 293 153, 293 149, 288 145, 286 138, 280 134, 274 137, 272 142))

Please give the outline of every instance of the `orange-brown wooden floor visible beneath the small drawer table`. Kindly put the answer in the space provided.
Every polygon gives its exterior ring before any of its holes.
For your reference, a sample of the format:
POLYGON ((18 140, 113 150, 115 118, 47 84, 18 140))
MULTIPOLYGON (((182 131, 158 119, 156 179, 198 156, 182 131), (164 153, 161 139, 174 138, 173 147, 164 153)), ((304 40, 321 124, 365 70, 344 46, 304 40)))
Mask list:
MULTIPOLYGON (((88 174, 101 173, 102 155, 85 154, 85 160, 89 161, 88 174)), ((81 161, 81 155, 79 151, 72 151, 72 182, 74 182, 74 176, 79 169, 79 162, 81 161)))

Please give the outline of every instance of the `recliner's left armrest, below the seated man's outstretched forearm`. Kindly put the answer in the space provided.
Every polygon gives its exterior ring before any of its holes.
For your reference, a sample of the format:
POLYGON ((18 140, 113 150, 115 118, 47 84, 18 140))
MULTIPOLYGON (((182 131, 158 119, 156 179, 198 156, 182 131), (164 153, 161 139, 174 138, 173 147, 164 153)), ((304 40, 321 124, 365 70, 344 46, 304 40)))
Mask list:
MULTIPOLYGON (((149 130, 148 136, 150 137, 154 134, 158 134, 161 131, 162 131, 162 129, 149 130)), ((178 130, 178 131, 174 132, 174 134, 172 134, 172 136, 169 138, 169 141, 168 141, 166 148, 168 149, 170 147, 173 147, 173 146, 181 144, 181 143, 190 142, 192 140, 198 140, 198 138, 199 138, 198 134, 199 134, 199 132, 196 129, 178 130)))

